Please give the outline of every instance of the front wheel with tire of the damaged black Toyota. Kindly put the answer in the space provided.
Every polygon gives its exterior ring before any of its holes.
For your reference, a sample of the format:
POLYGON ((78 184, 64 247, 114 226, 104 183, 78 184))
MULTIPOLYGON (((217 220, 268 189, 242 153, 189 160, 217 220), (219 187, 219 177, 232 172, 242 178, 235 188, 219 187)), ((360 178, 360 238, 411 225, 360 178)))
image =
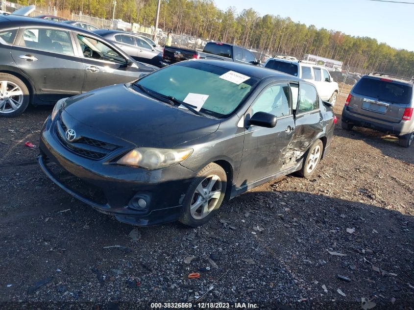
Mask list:
POLYGON ((208 222, 217 213, 223 202, 226 188, 227 175, 222 167, 210 163, 202 168, 185 194, 180 222, 192 227, 208 222), (212 186, 210 190, 209 186, 212 186), (201 191, 204 192, 204 195, 206 192, 210 193, 210 198, 204 198, 200 194, 201 191), (212 192, 215 194, 211 194, 212 192))

